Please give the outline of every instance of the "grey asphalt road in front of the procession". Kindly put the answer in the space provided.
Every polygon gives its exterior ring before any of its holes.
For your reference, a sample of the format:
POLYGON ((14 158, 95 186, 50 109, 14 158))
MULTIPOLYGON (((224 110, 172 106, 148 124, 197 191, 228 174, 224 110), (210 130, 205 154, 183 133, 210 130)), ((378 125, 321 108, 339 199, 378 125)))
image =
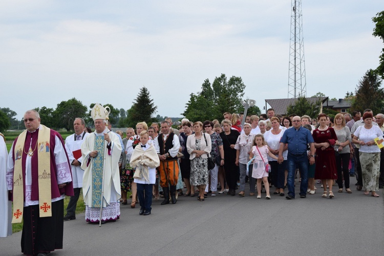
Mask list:
MULTIPOLYGON (((321 190, 294 200, 181 196, 174 205, 153 201, 149 216, 121 205, 120 220, 101 227, 79 214, 50 255, 384 255, 382 191, 374 198, 336 185, 329 199, 321 190)), ((21 255, 20 237, 0 239, 0 255, 21 255)))

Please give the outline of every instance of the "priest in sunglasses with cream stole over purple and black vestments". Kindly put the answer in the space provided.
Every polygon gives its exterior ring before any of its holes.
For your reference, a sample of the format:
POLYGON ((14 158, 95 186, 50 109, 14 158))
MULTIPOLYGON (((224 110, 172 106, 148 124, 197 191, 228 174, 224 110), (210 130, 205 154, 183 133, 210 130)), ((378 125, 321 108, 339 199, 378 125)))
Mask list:
POLYGON ((24 124, 27 130, 15 139, 8 155, 12 223, 24 219, 24 254, 47 255, 62 248, 63 199, 73 196, 71 168, 60 134, 40 125, 37 111, 28 110, 24 124))

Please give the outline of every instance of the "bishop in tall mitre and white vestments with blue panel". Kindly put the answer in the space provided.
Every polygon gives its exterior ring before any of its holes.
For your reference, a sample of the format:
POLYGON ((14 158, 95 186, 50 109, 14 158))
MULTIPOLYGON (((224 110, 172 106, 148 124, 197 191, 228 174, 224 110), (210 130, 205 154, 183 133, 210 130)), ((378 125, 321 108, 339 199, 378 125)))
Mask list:
POLYGON ((109 111, 96 104, 91 115, 95 132, 88 135, 81 145, 81 169, 84 170, 82 191, 86 203, 86 221, 98 223, 101 217, 103 224, 114 222, 120 216, 121 145, 118 135, 106 127, 109 111))

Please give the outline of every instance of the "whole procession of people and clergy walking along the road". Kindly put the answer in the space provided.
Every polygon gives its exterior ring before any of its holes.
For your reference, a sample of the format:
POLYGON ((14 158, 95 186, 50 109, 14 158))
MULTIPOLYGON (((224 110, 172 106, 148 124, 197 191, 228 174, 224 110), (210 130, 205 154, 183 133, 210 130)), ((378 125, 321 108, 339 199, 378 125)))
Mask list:
MULTIPOLYGON (((334 118, 324 113, 282 117, 272 108, 260 117, 225 112, 221 122, 183 119, 178 129, 168 118, 139 122, 126 128, 125 137, 112 131, 108 109, 96 104, 91 115, 95 131, 76 118, 75 133, 64 142, 40 124, 37 111, 28 110, 27 130, 8 156, 0 145, 0 164, 7 170, 0 193, 6 206, 2 223, 24 219, 22 252, 27 255, 62 248, 62 222, 76 219, 81 188, 86 221, 101 225, 118 220, 121 205, 130 199, 130 207, 138 203, 139 214, 147 216, 152 200, 160 198, 165 205, 181 196, 203 202, 218 194, 261 199, 265 192, 267 200, 271 194, 292 200, 297 176, 300 198, 316 194, 317 185, 323 188, 319 196, 332 199, 334 183, 338 193, 351 194, 351 177, 356 177, 355 191, 365 195, 379 197, 384 186, 384 114, 374 116, 370 109, 334 118), (66 195, 71 199, 63 217, 66 195)), ((0 227, 0 236, 9 235, 9 226, 0 227)))

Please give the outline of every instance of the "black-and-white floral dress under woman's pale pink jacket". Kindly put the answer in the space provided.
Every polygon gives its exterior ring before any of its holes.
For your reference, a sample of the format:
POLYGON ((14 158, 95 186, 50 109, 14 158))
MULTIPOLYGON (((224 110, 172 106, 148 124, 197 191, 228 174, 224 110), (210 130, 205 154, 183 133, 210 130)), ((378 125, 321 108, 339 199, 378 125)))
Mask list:
MULTIPOLYGON (((196 149, 201 150, 201 139, 196 139, 196 149)), ((190 160, 190 184, 201 185, 208 184, 208 159, 202 157, 195 157, 190 160)))

